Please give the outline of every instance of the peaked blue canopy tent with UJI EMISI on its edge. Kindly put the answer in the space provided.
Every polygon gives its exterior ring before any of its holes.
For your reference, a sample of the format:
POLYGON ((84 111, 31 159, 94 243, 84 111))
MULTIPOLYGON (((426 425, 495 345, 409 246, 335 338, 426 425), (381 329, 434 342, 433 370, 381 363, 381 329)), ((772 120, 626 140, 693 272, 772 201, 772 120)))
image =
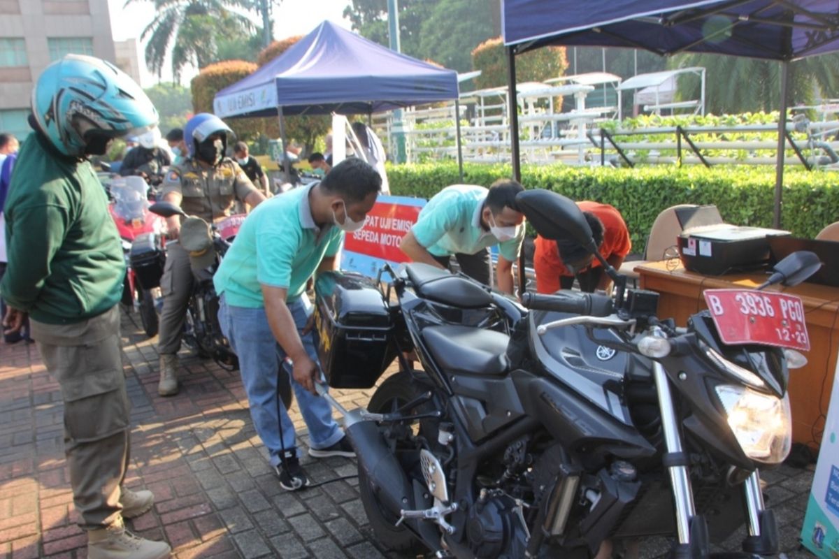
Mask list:
POLYGON ((457 96, 456 71, 325 21, 252 75, 216 93, 213 111, 221 118, 277 115, 282 129, 284 115, 370 115, 457 96))

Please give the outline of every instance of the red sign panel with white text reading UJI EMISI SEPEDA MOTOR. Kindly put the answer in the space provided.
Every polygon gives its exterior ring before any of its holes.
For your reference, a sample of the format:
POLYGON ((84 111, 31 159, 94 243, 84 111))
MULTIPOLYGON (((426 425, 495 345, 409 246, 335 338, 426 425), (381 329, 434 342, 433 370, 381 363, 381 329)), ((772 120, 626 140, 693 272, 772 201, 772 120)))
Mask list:
POLYGON ((390 201, 376 202, 367 214, 364 229, 347 234, 344 248, 373 258, 405 262, 408 257, 399 250, 399 242, 411 229, 422 207, 390 201))

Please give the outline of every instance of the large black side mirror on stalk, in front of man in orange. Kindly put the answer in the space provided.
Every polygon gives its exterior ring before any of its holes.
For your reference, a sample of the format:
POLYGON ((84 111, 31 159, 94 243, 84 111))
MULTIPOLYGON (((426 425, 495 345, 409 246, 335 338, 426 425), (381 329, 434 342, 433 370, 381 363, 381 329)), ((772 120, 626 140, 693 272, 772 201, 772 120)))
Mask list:
MULTIPOLYGON (((516 205, 536 232, 545 239, 559 241, 570 238, 580 243, 589 254, 600 261, 615 285, 623 290, 626 279, 618 274, 597 250, 586 216, 574 200, 550 190, 533 189, 516 194, 516 205)), ((623 292, 619 292, 618 299, 623 299, 623 292)))

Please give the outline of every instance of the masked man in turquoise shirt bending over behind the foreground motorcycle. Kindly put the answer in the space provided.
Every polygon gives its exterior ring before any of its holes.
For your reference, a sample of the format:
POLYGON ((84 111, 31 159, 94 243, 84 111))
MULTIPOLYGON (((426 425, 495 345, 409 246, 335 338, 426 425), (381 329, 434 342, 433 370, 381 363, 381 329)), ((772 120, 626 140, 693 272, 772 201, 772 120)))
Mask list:
POLYGON ((524 241, 524 214, 516 194, 524 190, 514 180, 497 180, 489 189, 455 184, 440 190, 425 204, 420 217, 399 248, 414 262, 448 268, 455 256, 466 276, 492 285, 488 247, 498 245, 498 289, 513 294, 513 261, 524 241))

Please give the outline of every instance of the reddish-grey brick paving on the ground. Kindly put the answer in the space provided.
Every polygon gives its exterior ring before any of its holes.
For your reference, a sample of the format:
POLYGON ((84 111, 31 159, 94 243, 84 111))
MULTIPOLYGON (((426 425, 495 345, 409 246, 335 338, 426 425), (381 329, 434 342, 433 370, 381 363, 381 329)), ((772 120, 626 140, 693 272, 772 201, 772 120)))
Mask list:
MULTIPOLYGON (((133 520, 133 531, 165 538, 178 559, 391 557, 367 525, 355 479, 295 494, 280 489, 250 422, 237 372, 186 358, 180 395, 159 397, 157 353, 133 318, 122 320, 134 426, 127 484, 155 495, 154 510, 133 520)), ((352 407, 366 404, 370 391, 334 394, 352 407)), ((300 415, 292 415, 301 429, 300 415)), ((305 432, 300 442, 305 446, 305 432)), ((315 482, 356 469, 346 458, 303 462, 315 482)), ((782 467, 764 479, 784 551, 809 556, 799 550, 798 535, 812 471, 782 467)), ((736 551, 740 538, 732 537, 722 549, 736 551)), ((59 387, 34 345, 0 344, 0 554, 81 558, 85 543, 65 470, 59 387)), ((648 541, 643 556, 666 549, 666 541, 648 541)))

